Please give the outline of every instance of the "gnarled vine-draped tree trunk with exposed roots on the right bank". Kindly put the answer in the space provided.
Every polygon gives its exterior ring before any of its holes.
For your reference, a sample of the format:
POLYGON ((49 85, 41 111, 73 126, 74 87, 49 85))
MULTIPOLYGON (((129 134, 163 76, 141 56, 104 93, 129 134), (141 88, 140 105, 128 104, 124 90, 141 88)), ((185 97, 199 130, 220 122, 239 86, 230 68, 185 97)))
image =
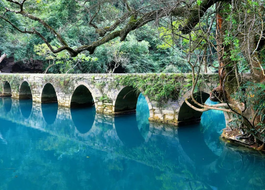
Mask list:
MULTIPOLYGON (((229 13, 218 10, 219 3, 217 3, 217 14, 216 14, 216 35, 217 35, 217 55, 219 61, 219 76, 220 76, 220 86, 215 88, 212 93, 219 95, 222 94, 223 101, 229 104, 235 105, 236 108, 231 108, 234 114, 224 113, 226 124, 230 127, 233 126, 237 129, 246 129, 248 134, 255 138, 255 142, 260 144, 261 141, 264 142, 264 139, 260 137, 258 130, 255 129, 255 123, 252 118, 255 118, 255 108, 251 106, 249 103, 241 100, 241 97, 244 95, 236 95, 237 99, 234 95, 236 92, 241 92, 244 94, 244 90, 241 88, 241 77, 238 73, 236 60, 231 60, 232 50, 234 48, 233 40, 226 41, 225 37, 228 36, 229 31, 229 13), (230 122, 230 123, 229 123, 230 122), (240 123, 239 124, 237 124, 240 123)), ((249 28, 249 27, 246 27, 249 28)), ((248 33, 246 33, 248 34, 248 33)), ((249 34, 248 34, 249 35, 249 34)), ((257 43, 255 43, 255 36, 249 35, 250 38, 247 39, 246 36, 238 37, 241 39, 240 41, 240 49, 243 52, 243 55, 249 65, 249 69, 251 75, 253 77, 254 83, 263 82, 264 81, 264 73, 262 70, 261 59, 258 57, 258 53, 255 52, 257 47, 257 43), (242 41, 244 39, 244 41, 242 41), (247 40, 246 40, 247 39, 247 40)), ((245 89, 246 91, 251 91, 251 89, 245 89)), ((246 96, 246 95, 245 95, 246 96)), ((210 98, 212 94, 210 95, 210 98)), ((214 99, 214 98, 213 98, 214 99)), ((244 99, 244 98, 243 98, 244 99)), ((256 117, 258 120, 260 117, 256 117)), ((263 147, 261 147, 263 149, 263 147)))

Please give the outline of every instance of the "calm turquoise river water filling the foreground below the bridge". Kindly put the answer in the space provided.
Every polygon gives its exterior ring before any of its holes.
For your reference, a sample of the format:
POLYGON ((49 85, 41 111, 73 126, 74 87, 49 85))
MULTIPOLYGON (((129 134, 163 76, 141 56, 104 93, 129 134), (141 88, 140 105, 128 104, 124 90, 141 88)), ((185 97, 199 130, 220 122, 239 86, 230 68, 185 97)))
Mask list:
MULTIPOLYGON (((208 101, 208 103, 210 103, 208 101)), ((0 189, 264 189, 265 159, 219 139, 219 111, 179 128, 0 98, 0 189)))

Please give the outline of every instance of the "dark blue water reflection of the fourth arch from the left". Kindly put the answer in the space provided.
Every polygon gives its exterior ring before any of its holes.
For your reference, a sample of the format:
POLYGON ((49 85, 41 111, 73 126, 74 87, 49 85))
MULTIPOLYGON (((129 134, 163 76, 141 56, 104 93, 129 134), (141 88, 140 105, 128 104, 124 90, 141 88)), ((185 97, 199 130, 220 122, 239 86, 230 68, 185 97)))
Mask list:
POLYGON ((71 108, 74 126, 79 133, 85 134, 92 128, 96 115, 94 106, 86 108, 71 108), (84 120, 84 118, 86 118, 84 120))

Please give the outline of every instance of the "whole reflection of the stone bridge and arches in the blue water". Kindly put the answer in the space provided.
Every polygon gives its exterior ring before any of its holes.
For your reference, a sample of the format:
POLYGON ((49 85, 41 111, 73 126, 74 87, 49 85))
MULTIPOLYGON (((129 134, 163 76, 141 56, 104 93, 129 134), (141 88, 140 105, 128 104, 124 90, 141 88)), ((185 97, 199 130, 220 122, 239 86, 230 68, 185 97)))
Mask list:
MULTIPOLYGON (((113 117, 96 114, 93 107, 77 109, 0 98, 0 117, 65 141, 111 153, 114 157, 157 168, 180 182, 191 181, 192 188, 202 186, 212 189, 215 184, 211 183, 211 178, 220 170, 219 164, 229 152, 225 149, 220 156, 215 155, 205 143, 199 127, 190 132, 158 123, 142 127, 135 114, 113 117), (191 176, 191 173, 197 175, 191 176), (207 181, 204 180, 206 176, 209 178, 207 181)), ((4 134, 6 130, 1 132, 4 134)), ((8 144, 8 139, 4 139, 1 132, 0 141, 8 144)))

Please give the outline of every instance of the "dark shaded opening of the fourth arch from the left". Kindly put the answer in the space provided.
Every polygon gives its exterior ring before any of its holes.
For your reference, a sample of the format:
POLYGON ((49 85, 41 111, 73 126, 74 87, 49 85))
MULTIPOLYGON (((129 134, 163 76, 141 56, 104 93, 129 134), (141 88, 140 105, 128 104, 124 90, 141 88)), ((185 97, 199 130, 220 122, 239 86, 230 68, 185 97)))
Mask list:
POLYGON ((94 105, 91 92, 84 85, 78 86, 71 98, 70 107, 88 107, 94 105))

